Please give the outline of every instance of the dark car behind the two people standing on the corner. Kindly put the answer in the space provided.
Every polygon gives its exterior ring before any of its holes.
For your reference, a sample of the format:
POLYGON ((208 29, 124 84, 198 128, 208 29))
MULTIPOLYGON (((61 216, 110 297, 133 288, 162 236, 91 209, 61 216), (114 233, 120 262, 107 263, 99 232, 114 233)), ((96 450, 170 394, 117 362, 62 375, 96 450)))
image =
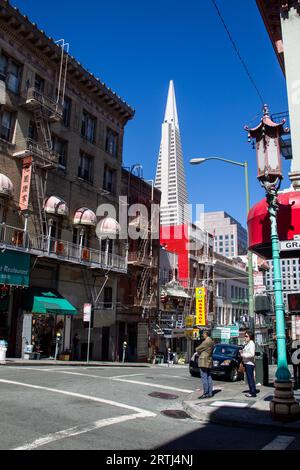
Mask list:
MULTIPOLYGON (((216 344, 213 350, 213 367, 211 374, 213 376, 224 377, 226 380, 236 382, 241 374, 239 373, 239 365, 242 361, 240 350, 242 346, 235 344, 216 344)), ((190 360, 190 374, 193 377, 200 377, 198 367, 199 354, 195 353, 190 360)))

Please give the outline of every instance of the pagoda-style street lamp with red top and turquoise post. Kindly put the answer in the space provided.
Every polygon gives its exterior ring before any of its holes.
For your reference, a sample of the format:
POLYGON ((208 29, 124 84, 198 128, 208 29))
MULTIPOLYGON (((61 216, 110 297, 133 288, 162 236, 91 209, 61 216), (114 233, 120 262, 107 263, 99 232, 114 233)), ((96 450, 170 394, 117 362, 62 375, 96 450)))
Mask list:
POLYGON ((254 129, 245 127, 249 141, 256 142, 256 155, 260 184, 266 191, 268 212, 271 222, 272 260, 274 267, 274 295, 277 339, 277 371, 275 393, 270 410, 272 417, 278 420, 290 421, 298 419, 300 407, 294 398, 291 374, 288 369, 286 355, 286 336, 284 320, 284 303, 282 295, 282 277, 280 266, 279 239, 277 231, 278 191, 283 178, 280 154, 280 136, 284 129, 285 120, 275 123, 269 116, 268 106, 264 106, 264 114, 260 124, 254 129))

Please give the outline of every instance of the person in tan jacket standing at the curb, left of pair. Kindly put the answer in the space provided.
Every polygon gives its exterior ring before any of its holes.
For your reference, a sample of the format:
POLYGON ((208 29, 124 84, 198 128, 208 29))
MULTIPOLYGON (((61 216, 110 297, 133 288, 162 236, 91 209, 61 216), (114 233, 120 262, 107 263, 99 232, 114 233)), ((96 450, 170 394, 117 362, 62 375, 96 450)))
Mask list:
POLYGON ((209 332, 204 331, 203 339, 200 346, 196 348, 197 353, 199 354, 198 366, 200 368, 200 377, 203 386, 203 398, 211 398, 213 396, 213 383, 211 377, 211 368, 212 368, 212 353, 214 348, 214 342, 210 338, 209 332))

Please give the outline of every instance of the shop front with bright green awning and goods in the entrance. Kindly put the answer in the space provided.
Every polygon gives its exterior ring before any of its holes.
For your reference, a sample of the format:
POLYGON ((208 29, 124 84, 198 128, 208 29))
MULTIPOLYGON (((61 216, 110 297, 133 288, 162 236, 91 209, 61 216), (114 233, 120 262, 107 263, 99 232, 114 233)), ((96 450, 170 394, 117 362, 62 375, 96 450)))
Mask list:
POLYGON ((22 309, 22 356, 70 359, 71 321, 77 309, 55 289, 41 287, 23 293, 22 309))

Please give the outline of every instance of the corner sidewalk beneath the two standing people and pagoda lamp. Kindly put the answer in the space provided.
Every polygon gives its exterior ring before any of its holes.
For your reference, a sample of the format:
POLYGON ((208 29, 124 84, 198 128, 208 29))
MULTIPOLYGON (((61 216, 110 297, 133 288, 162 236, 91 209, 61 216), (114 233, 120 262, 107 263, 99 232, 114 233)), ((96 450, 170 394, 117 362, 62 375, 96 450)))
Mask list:
MULTIPOLYGON (((273 421, 270 415, 270 401, 274 387, 257 386, 257 398, 247 398, 245 382, 214 386, 214 397, 200 400, 200 390, 193 392, 184 402, 184 410, 194 419, 205 423, 226 426, 274 429, 278 431, 300 432, 300 420, 291 423, 273 421)), ((300 390, 295 390, 295 398, 300 402, 300 390)))

